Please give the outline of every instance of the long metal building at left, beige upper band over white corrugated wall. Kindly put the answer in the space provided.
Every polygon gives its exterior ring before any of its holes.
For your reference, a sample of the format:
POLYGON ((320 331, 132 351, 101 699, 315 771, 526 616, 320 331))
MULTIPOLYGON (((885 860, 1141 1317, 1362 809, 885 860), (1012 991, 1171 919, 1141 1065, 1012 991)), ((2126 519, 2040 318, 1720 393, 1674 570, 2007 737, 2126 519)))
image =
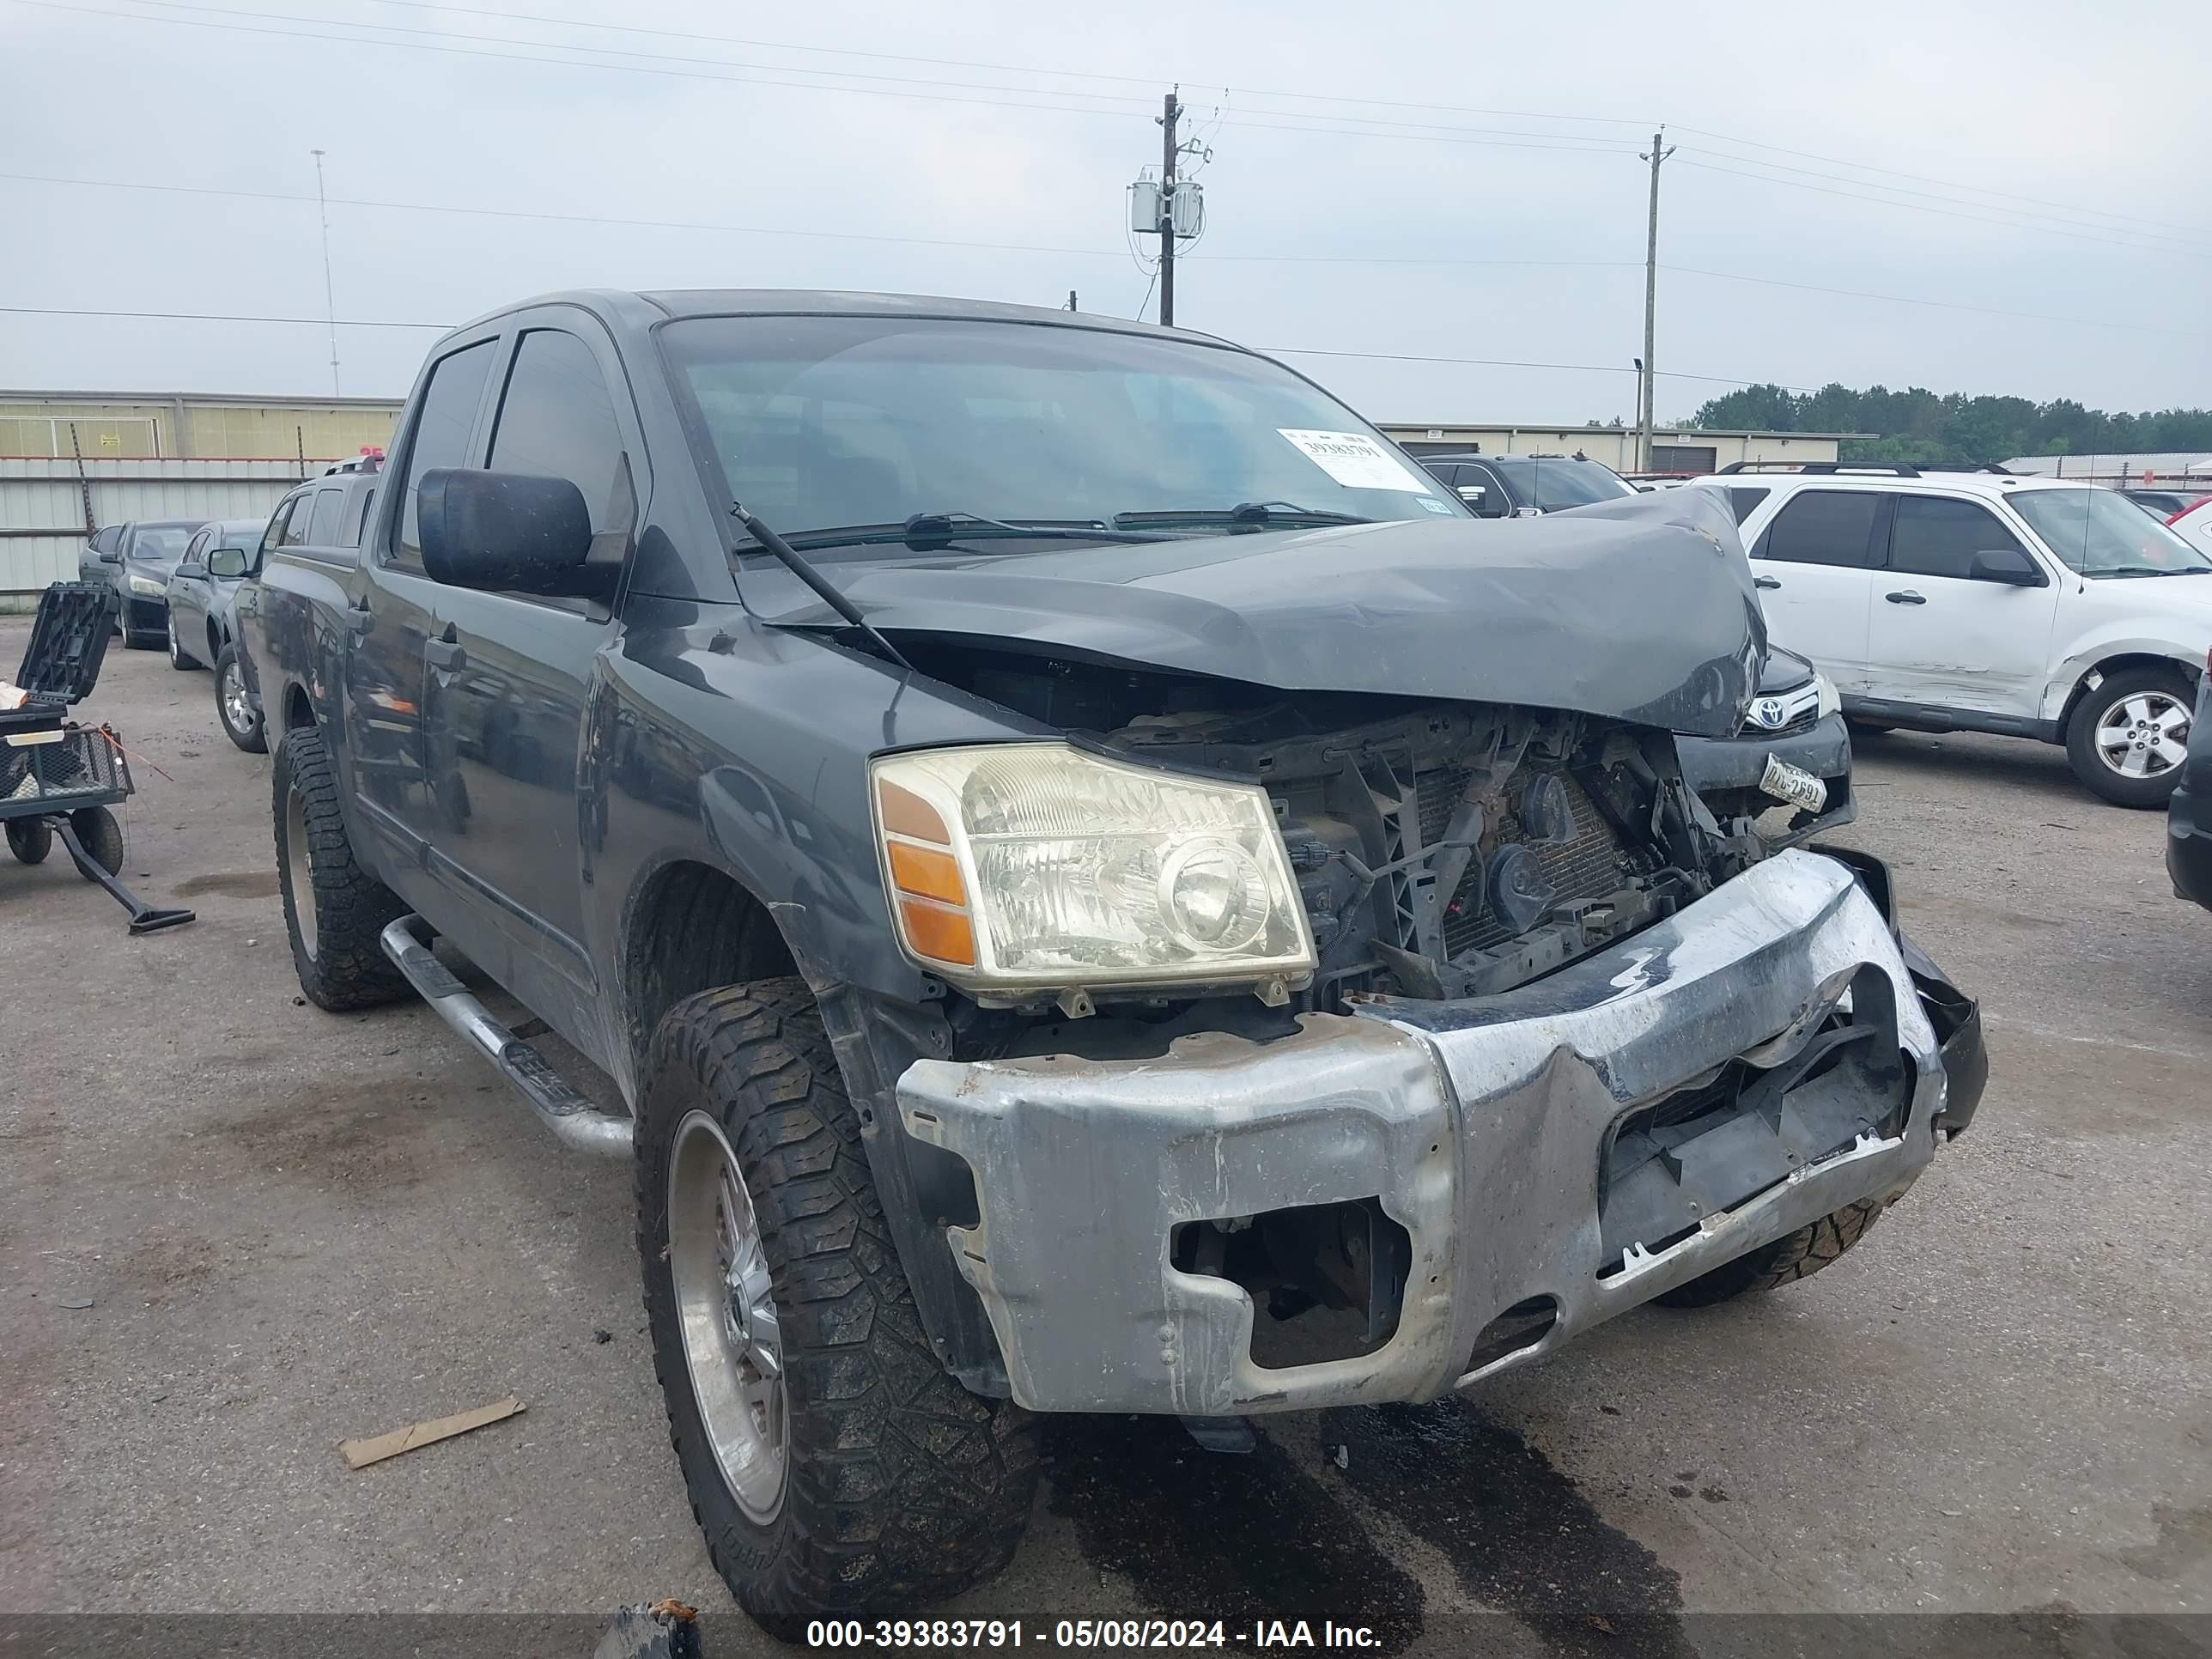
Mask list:
POLYGON ((0 611, 75 577, 139 518, 257 518, 301 478, 383 449, 396 398, 0 392, 0 611))

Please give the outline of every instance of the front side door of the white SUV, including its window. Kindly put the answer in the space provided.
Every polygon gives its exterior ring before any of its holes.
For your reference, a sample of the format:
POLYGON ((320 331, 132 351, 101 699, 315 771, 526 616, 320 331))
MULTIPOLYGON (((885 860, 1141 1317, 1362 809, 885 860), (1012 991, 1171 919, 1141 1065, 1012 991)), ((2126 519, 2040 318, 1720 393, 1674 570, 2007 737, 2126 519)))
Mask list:
POLYGON ((1889 557, 1874 582, 1867 697, 1982 714, 2039 712, 2053 584, 1973 580, 1973 555, 2011 549, 2039 564, 2004 522, 1973 500, 1896 491, 1889 557))

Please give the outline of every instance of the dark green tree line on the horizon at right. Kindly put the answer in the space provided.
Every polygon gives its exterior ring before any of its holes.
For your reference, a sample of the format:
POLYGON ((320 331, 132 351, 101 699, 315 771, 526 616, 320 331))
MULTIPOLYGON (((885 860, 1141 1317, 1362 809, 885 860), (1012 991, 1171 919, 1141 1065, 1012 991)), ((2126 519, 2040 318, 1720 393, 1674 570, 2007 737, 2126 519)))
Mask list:
POLYGON ((1790 392, 1750 385, 1712 398, 1694 427, 1741 431, 1871 431, 1840 447, 1843 460, 1966 460, 2011 456, 2126 456, 2166 449, 2212 449, 2212 409, 2106 414, 2073 398, 1969 398, 1927 387, 1825 385, 1790 392))

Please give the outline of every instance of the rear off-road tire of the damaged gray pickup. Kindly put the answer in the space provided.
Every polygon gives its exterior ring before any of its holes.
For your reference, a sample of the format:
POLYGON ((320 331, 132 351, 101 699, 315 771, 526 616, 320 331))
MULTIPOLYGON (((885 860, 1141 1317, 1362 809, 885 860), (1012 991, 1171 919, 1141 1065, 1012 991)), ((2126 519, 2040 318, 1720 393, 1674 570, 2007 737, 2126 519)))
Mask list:
POLYGON ((385 958, 378 936, 387 922, 405 916, 407 907, 354 858, 354 845, 345 838, 345 816, 338 812, 338 779, 316 728, 301 726, 283 734, 276 763, 270 768, 270 792, 276 889, 283 896, 283 925, 292 940, 299 989, 314 1006, 332 1013, 374 1009, 378 1002, 405 995, 407 980, 385 958), (301 803, 299 823, 305 830, 301 847, 305 880, 292 880, 294 790, 301 803), (301 929, 301 896, 314 907, 312 949, 301 929))

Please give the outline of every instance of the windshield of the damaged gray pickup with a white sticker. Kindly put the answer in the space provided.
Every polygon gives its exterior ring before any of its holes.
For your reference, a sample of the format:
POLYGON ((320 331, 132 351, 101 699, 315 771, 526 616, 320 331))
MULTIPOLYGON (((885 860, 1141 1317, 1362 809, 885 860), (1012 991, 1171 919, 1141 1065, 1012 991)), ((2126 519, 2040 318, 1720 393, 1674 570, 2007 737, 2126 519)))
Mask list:
POLYGON ((1219 533, 1250 502, 1279 518, 1464 515, 1365 420, 1243 352, 909 316, 712 316, 661 338, 710 487, 783 535, 914 513, 1217 513, 1175 533, 1219 533))

